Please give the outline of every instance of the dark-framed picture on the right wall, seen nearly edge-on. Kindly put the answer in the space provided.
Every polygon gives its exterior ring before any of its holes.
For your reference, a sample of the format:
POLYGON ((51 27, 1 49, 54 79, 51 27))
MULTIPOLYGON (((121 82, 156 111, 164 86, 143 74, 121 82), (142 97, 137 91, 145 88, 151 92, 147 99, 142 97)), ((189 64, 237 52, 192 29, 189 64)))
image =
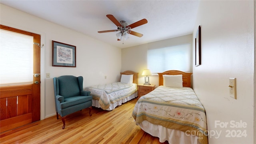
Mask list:
POLYGON ((195 65, 201 65, 201 26, 198 26, 195 37, 195 65))

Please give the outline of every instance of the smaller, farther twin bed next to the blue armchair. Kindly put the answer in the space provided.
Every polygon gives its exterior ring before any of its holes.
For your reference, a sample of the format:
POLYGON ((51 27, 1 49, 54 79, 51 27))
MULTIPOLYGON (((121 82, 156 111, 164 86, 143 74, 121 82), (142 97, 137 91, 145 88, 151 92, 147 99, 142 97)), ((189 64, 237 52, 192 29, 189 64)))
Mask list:
POLYGON ((138 96, 138 73, 133 71, 121 72, 120 82, 100 84, 86 87, 93 97, 92 106, 103 110, 113 110, 138 96))

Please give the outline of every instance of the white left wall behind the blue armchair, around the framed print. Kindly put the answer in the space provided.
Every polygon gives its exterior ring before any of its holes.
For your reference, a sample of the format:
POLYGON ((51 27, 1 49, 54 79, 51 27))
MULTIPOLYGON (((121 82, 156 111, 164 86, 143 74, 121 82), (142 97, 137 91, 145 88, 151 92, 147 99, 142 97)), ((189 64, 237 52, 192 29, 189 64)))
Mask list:
POLYGON ((56 114, 53 77, 83 76, 84 87, 120 80, 120 48, 3 4, 0 6, 0 24, 41 35, 41 44, 44 44, 41 57, 41 119, 56 114), (52 40, 76 46, 76 68, 52 66, 52 40), (46 73, 50 73, 50 78, 46 78, 46 73))

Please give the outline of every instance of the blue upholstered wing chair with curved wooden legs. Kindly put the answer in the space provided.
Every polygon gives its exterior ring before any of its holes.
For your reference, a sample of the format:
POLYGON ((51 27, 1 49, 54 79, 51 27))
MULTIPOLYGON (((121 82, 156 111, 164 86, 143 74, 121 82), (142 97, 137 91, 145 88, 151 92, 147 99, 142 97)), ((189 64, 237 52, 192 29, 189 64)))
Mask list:
POLYGON ((60 76, 53 78, 56 116, 63 122, 65 128, 65 117, 84 108, 92 110, 92 96, 89 91, 83 90, 83 77, 60 76))

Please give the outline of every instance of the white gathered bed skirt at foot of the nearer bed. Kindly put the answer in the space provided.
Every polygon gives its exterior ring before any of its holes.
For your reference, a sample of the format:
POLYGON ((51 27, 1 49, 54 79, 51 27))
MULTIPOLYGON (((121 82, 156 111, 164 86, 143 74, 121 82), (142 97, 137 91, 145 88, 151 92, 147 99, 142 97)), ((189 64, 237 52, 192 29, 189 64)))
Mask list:
POLYGON ((197 136, 187 136, 181 130, 165 128, 164 126, 151 124, 146 120, 141 122, 139 126, 144 132, 158 137, 160 142, 167 140, 169 144, 198 144, 197 136))

